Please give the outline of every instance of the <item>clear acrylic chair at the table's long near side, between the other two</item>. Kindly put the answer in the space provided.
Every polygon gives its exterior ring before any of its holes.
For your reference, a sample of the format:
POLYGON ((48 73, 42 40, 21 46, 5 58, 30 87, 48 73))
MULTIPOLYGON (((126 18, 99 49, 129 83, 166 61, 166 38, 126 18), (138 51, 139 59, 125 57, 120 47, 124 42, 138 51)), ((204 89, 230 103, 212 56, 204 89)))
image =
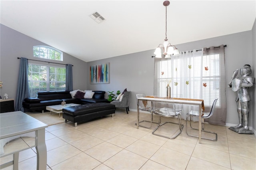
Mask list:
MULTIPOLYGON (((158 115, 158 126, 153 130, 152 134, 156 135, 156 136, 161 136, 164 138, 169 138, 169 139, 174 139, 176 138, 181 132, 182 129, 184 127, 184 125, 182 125, 181 122, 181 112, 183 109, 183 105, 182 104, 176 104, 174 102, 174 99, 168 99, 170 100, 170 102, 155 102, 154 104, 154 114, 158 115), (170 121, 166 121, 165 123, 161 124, 161 118, 162 117, 178 117, 178 123, 174 123, 174 122, 170 122, 170 121), (178 129, 175 131, 173 134, 169 134, 169 136, 166 135, 162 135, 162 134, 156 134, 156 130, 158 130, 159 127, 165 125, 166 123, 172 123, 172 124, 177 124, 178 125, 178 129), (172 137, 174 135, 174 137, 172 137)), ((172 131, 172 129, 170 129, 170 131, 172 131)))

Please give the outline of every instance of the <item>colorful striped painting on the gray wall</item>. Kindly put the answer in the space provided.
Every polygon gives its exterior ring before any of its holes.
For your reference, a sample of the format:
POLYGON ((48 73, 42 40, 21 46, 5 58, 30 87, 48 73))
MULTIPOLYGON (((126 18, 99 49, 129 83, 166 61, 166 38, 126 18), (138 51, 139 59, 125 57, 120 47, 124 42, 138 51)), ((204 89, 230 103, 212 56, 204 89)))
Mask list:
POLYGON ((109 83, 109 63, 90 66, 90 83, 109 83))

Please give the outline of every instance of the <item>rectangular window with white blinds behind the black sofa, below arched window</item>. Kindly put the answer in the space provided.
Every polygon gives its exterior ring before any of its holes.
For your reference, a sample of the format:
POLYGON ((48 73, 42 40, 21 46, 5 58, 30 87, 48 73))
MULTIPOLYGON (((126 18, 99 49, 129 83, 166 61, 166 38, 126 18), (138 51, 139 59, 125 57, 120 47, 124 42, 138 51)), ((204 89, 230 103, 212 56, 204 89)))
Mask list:
POLYGON ((28 64, 30 97, 37 97, 38 91, 65 91, 66 67, 28 64))

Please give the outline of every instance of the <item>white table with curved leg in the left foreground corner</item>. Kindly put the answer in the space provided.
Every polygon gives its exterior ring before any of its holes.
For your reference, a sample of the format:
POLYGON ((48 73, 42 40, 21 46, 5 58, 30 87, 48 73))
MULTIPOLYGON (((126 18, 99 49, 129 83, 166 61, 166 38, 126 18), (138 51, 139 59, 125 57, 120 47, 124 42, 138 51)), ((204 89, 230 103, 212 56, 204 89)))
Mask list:
POLYGON ((45 128, 48 125, 34 119, 22 111, 0 114, 0 157, 13 154, 13 161, 1 165, 1 169, 13 164, 18 169, 19 152, 36 147, 37 170, 46 170, 47 151, 45 128), (19 147, 12 147, 18 142, 19 147), (9 147, 8 147, 9 146, 9 147))

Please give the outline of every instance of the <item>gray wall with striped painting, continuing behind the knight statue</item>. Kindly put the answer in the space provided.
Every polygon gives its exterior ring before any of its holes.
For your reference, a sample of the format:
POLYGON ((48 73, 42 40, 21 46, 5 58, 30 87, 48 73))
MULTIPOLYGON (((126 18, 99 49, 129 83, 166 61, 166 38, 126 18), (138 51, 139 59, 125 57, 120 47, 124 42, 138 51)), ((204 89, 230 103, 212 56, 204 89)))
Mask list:
MULTIPOLYGON (((255 32, 255 30, 254 30, 255 32)), ((209 38, 196 42, 189 42, 178 44, 176 47, 180 51, 190 49, 201 49, 202 47, 227 45, 225 47, 226 59, 226 84, 231 79, 233 71, 243 67, 244 64, 252 64, 252 30, 240 32, 237 34, 230 34, 215 38, 209 38)), ((156 42, 157 45, 157 42, 156 42)), ((255 49, 255 47, 254 47, 255 49)), ((88 62, 88 67, 94 64, 110 63, 110 83, 109 84, 90 84, 87 81, 88 89, 96 90, 101 89, 104 91, 117 91, 127 90, 132 91, 130 109, 136 109, 136 93, 146 93, 146 95, 153 95, 154 89, 154 49, 102 59, 98 61, 88 62)), ((252 67, 255 72, 255 66, 252 67)), ((89 68, 87 70, 89 73, 89 68)), ((252 94, 254 88, 250 89, 252 94)), ((107 95, 105 96, 107 97, 107 95)), ((236 111, 235 97, 236 93, 231 89, 226 89, 227 97, 227 125, 238 124, 238 114, 236 111)), ((251 105, 254 105, 255 100, 251 105)), ((250 122, 249 126, 252 127, 252 116, 255 113, 255 108, 252 111, 250 108, 250 122)), ((254 121, 255 125, 255 121, 254 121)), ((255 129, 255 128, 254 128, 255 129)))

